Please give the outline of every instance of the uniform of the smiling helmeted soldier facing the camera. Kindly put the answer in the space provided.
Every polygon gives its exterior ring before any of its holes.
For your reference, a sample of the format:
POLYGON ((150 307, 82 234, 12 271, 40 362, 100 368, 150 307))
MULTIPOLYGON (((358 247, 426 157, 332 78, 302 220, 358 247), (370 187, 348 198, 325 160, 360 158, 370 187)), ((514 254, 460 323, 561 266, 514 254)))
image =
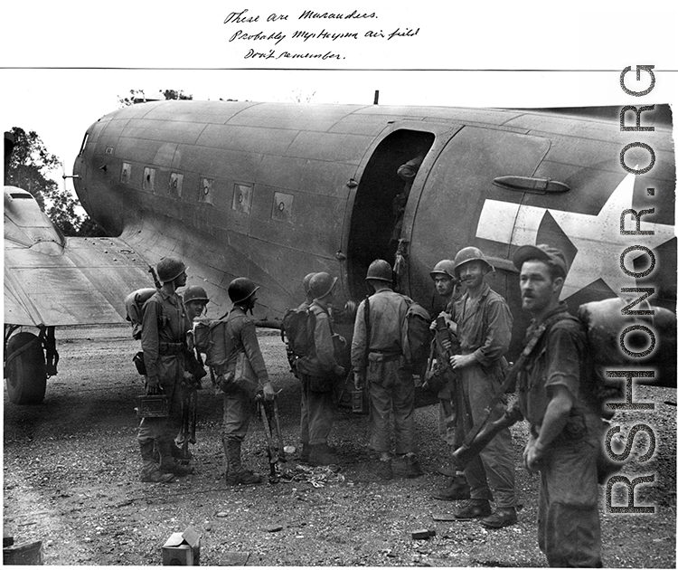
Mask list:
MULTIPOLYGON (((458 299, 450 316, 457 323, 462 354, 476 356, 474 364, 459 369, 466 417, 460 417, 461 424, 457 425, 466 433, 483 417, 502 384, 503 356, 511 341, 513 317, 504 298, 487 283, 483 283, 478 299, 471 299, 467 292, 458 299)), ((499 419, 504 409, 504 405, 496 406, 489 421, 499 419)), ((497 433, 464 473, 471 488, 471 499, 492 497, 487 485, 489 480, 496 507, 515 508, 513 442, 508 428, 497 433)))

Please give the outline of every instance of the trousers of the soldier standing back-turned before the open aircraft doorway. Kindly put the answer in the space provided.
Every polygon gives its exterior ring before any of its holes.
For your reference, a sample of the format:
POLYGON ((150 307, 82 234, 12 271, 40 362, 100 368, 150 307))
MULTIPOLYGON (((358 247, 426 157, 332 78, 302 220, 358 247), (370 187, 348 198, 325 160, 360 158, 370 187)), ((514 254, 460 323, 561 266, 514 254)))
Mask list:
POLYGON ((400 366, 399 357, 383 358, 370 353, 367 383, 370 386, 370 446, 374 451, 391 451, 391 413, 395 452, 417 452, 414 426, 414 380, 400 366))

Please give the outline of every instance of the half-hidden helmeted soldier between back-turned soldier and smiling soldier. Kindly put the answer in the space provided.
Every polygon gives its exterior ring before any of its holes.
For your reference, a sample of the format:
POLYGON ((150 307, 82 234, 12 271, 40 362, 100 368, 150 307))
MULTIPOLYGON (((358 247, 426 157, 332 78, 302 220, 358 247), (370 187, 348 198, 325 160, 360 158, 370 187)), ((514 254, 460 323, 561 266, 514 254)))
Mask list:
MULTIPOLYGON (((436 291, 438 295, 445 302, 445 309, 440 314, 443 318, 449 318, 449 312, 452 310, 453 303, 459 298, 459 293, 457 289, 457 278, 455 277, 455 262, 451 260, 442 260, 436 263, 436 266, 430 271, 429 275, 436 285, 436 291)), ((431 323, 431 328, 436 329, 436 323, 431 323)), ((440 401, 440 406, 438 408, 438 431, 443 441, 447 444, 448 453, 451 455, 453 451, 457 449, 460 442, 461 430, 457 429, 457 419, 460 417, 460 404, 459 398, 455 398, 455 392, 460 393, 460 390, 456 390, 458 380, 458 373, 455 373, 450 368, 449 362, 449 351, 451 350, 451 343, 449 338, 449 331, 446 328, 443 331, 436 332, 438 335, 445 335, 440 342, 438 339, 436 341, 435 347, 435 357, 438 369, 436 373, 442 376, 442 380, 445 381, 442 389, 438 392, 438 400, 440 401), (442 347, 444 343, 447 344, 447 347, 442 347), (444 350, 441 351, 440 348, 444 350)), ((458 499, 469 499, 470 493, 466 485, 460 486, 458 481, 459 475, 462 473, 457 472, 448 472, 447 470, 441 470, 445 475, 453 475, 455 477, 452 480, 448 481, 446 486, 442 489, 438 489, 433 494, 434 499, 440 500, 458 500, 458 499)))

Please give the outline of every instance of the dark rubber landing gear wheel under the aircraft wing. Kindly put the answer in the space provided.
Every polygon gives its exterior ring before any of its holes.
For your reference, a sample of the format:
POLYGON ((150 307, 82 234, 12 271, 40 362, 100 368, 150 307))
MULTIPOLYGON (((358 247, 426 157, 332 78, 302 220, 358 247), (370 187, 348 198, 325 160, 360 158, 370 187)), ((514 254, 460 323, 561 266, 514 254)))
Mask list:
POLYGON ((30 332, 7 341, 7 394, 14 404, 40 404, 47 388, 47 372, 40 339, 30 332))

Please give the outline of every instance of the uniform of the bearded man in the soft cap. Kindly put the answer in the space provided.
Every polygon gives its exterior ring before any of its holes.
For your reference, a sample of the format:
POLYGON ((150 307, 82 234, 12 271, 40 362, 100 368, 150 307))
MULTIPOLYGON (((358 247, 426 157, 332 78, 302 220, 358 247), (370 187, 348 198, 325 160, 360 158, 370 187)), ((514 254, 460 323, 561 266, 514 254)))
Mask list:
MULTIPOLYGON (((538 538, 551 566, 602 565, 598 516, 600 418, 585 403, 581 385, 585 332, 572 318, 559 319, 564 302, 546 315, 547 330, 519 376, 518 404, 537 437, 549 404, 549 388, 565 386, 574 399, 562 432, 540 463, 538 538)), ((527 338, 532 335, 527 331, 527 338)))

